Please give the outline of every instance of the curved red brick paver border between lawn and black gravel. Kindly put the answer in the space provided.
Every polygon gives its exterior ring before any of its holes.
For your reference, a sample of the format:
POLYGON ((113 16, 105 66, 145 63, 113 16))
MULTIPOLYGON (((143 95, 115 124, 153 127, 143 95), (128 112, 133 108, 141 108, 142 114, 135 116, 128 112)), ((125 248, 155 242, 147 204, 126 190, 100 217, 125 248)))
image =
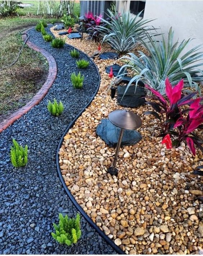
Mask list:
MULTIPOLYGON (((22 36, 23 41, 25 41, 26 38, 27 38, 26 35, 22 36)), ((37 105, 44 98, 44 96, 48 93, 49 88, 53 85, 53 82, 57 76, 57 63, 55 62, 54 57, 51 54, 49 54, 47 51, 45 51, 44 49, 42 49, 42 48, 36 46, 35 44, 33 44, 32 42, 30 42, 29 40, 26 42, 26 44, 33 50, 39 51, 48 60, 48 63, 49 63, 48 77, 47 77, 44 85, 42 85, 41 89, 26 105, 24 105, 24 107, 18 109, 18 111, 14 112, 6 120, 4 120, 2 123, 0 123, 0 133, 2 131, 4 131, 9 125, 11 125, 15 120, 20 118, 23 114, 27 113, 31 108, 33 108, 35 105, 37 105)))

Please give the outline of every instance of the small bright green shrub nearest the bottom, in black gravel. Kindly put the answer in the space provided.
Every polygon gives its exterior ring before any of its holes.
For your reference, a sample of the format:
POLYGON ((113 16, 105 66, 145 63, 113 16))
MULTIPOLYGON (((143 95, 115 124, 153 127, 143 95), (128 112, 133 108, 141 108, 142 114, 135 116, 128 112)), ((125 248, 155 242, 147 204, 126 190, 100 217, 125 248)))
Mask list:
POLYGON ((60 244, 67 244, 71 246, 73 243, 77 243, 78 239, 81 237, 80 230, 80 215, 77 214, 76 218, 68 218, 66 215, 59 214, 59 224, 55 223, 54 229, 56 233, 51 233, 52 237, 57 240, 60 244))

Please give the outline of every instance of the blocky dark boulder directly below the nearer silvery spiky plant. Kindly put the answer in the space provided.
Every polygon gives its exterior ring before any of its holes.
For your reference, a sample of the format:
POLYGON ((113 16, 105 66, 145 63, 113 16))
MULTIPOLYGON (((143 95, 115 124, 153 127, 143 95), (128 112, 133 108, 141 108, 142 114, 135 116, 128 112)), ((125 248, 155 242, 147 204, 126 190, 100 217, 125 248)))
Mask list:
POLYGON ((137 108, 141 105, 144 105, 145 98, 142 98, 146 96, 146 92, 144 90, 143 86, 137 85, 137 88, 135 85, 129 86, 125 96, 123 94, 125 93, 127 86, 118 86, 117 87, 117 100, 118 104, 123 106, 123 107, 128 107, 128 108, 137 108), (136 88, 136 91, 135 91, 136 88), (123 99, 122 99, 123 97, 123 99))

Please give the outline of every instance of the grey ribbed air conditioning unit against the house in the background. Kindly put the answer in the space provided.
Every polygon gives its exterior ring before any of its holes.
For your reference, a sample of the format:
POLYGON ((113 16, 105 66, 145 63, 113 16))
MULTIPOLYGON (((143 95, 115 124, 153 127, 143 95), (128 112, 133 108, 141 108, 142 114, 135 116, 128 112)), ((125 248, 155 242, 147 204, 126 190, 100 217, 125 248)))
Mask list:
POLYGON ((110 8, 112 1, 80 1, 80 15, 92 12, 93 15, 102 14, 103 18, 107 18, 107 9, 110 8))

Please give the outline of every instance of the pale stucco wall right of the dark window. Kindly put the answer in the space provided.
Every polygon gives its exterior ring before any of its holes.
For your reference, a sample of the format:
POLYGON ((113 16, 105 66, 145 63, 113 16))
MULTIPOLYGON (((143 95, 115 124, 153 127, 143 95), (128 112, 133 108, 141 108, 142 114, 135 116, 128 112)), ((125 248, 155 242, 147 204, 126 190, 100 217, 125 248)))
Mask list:
POLYGON ((189 48, 203 43, 203 1, 146 0, 144 19, 154 18, 151 25, 166 36, 172 26, 175 40, 194 38, 189 48))

